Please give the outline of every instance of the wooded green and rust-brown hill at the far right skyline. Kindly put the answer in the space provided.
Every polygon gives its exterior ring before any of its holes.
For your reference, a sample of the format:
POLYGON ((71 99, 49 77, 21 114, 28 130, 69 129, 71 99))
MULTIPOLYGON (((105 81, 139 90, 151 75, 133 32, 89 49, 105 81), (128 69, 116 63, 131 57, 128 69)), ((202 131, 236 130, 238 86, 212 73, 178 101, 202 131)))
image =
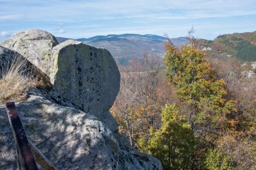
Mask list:
POLYGON ((199 40, 201 48, 210 47, 210 54, 232 55, 242 62, 256 60, 256 32, 224 34, 212 40, 199 40))

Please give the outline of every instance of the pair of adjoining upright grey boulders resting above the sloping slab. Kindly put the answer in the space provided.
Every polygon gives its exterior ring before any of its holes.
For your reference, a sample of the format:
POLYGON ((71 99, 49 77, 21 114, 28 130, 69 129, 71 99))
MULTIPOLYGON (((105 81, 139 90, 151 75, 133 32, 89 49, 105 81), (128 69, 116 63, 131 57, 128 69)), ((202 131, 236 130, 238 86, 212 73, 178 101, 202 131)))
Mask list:
POLYGON ((50 77, 59 95, 117 132, 108 110, 119 91, 120 73, 108 50, 74 40, 58 44, 52 34, 42 30, 20 32, 1 45, 22 54, 50 77))

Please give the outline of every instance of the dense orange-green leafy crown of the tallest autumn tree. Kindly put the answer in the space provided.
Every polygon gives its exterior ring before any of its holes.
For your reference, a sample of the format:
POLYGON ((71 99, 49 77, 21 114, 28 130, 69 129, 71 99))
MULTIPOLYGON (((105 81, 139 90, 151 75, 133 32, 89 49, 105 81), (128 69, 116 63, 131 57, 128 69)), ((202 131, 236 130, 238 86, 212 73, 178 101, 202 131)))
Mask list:
POLYGON ((195 46, 183 46, 179 50, 167 44, 164 63, 168 81, 177 88, 179 98, 191 105, 192 124, 209 115, 236 112, 235 101, 228 99, 225 81, 217 79, 215 69, 195 46))

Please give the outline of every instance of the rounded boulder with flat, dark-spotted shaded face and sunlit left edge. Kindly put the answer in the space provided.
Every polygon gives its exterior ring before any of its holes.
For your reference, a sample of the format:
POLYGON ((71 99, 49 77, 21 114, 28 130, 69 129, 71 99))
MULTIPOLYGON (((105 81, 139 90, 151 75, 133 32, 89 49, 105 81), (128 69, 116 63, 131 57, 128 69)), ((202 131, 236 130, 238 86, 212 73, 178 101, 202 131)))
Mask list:
POLYGON ((53 48, 52 57, 55 91, 102 120, 120 87, 119 69, 110 52, 68 40, 53 48))

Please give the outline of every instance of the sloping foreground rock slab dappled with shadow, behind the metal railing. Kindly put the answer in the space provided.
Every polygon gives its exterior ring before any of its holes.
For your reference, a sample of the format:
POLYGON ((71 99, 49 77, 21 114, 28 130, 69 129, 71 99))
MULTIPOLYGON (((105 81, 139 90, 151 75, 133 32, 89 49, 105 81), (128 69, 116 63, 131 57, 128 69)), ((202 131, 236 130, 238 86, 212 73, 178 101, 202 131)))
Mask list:
MULTIPOLYGON (((40 90, 16 103, 28 138, 57 169, 162 169, 95 116, 53 103, 40 90)), ((70 105, 70 103, 67 103, 70 105)), ((4 105, 0 106, 0 169, 17 169, 15 143, 4 105)))

